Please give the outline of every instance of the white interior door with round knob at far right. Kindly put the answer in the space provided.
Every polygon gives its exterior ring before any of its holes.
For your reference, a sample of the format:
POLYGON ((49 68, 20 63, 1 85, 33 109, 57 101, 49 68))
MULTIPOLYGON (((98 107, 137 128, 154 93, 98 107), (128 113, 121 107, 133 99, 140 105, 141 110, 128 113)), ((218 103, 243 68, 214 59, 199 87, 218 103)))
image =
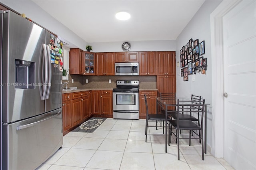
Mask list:
POLYGON ((242 1, 223 17, 224 159, 256 169, 256 1, 242 1))

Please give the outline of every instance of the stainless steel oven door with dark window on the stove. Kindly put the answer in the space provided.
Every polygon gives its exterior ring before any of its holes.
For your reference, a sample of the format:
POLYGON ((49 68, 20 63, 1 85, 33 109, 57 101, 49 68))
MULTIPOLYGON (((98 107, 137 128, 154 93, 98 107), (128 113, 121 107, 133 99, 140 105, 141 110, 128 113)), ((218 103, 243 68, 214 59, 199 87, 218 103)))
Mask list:
POLYGON ((139 93, 113 92, 113 111, 138 111, 139 93))

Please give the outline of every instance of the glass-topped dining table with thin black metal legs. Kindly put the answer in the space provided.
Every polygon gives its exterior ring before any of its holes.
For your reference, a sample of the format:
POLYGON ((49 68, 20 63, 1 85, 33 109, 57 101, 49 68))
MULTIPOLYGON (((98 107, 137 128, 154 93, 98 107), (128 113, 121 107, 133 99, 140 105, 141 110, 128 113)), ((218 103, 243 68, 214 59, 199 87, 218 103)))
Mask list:
MULTIPOLYGON (((180 101, 188 101, 187 99, 184 98, 174 98, 174 97, 157 97, 156 98, 156 113, 157 114, 162 114, 161 111, 165 111, 165 152, 167 153, 167 138, 168 138, 168 129, 167 129, 167 120, 169 118, 170 111, 173 111, 176 109, 178 99, 180 101)), ((190 104, 190 106, 193 105, 190 104)), ((206 132, 207 132, 207 105, 210 104, 205 104, 204 105, 204 153, 206 154, 206 132)))

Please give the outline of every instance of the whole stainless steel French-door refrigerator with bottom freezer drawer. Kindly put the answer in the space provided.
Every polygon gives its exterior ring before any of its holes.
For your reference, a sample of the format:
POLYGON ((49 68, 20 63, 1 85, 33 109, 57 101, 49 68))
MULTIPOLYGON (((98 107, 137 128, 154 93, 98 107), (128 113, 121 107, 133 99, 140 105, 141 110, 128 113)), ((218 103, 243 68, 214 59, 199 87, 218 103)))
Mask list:
POLYGON ((62 42, 1 11, 2 169, 35 169, 63 144, 62 42))

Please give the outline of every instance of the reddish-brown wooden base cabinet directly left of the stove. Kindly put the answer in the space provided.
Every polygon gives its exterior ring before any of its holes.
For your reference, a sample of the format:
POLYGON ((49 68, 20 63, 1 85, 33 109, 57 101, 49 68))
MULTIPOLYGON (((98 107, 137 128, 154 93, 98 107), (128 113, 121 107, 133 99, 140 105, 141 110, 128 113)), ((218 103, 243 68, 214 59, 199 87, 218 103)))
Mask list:
POLYGON ((113 115, 113 95, 112 90, 101 90, 101 114, 113 115))

